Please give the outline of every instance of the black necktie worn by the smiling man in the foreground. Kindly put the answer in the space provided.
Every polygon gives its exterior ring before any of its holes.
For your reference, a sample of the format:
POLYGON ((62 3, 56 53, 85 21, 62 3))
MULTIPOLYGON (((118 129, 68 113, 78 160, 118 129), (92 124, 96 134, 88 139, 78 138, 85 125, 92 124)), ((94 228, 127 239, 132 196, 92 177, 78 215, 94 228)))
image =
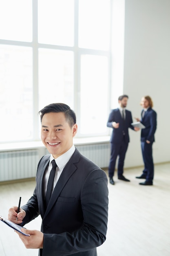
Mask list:
POLYGON ((46 207, 49 203, 49 200, 51 198, 51 193, 52 193, 52 189, 53 189, 53 182, 54 182, 54 176, 55 176, 55 171, 57 168, 57 164, 55 163, 55 159, 53 159, 53 161, 51 161, 52 164, 52 169, 50 172, 50 176, 49 176, 49 180, 48 180, 48 184, 47 184, 47 189, 46 189, 46 197, 45 197, 45 202, 46 202, 46 207))

